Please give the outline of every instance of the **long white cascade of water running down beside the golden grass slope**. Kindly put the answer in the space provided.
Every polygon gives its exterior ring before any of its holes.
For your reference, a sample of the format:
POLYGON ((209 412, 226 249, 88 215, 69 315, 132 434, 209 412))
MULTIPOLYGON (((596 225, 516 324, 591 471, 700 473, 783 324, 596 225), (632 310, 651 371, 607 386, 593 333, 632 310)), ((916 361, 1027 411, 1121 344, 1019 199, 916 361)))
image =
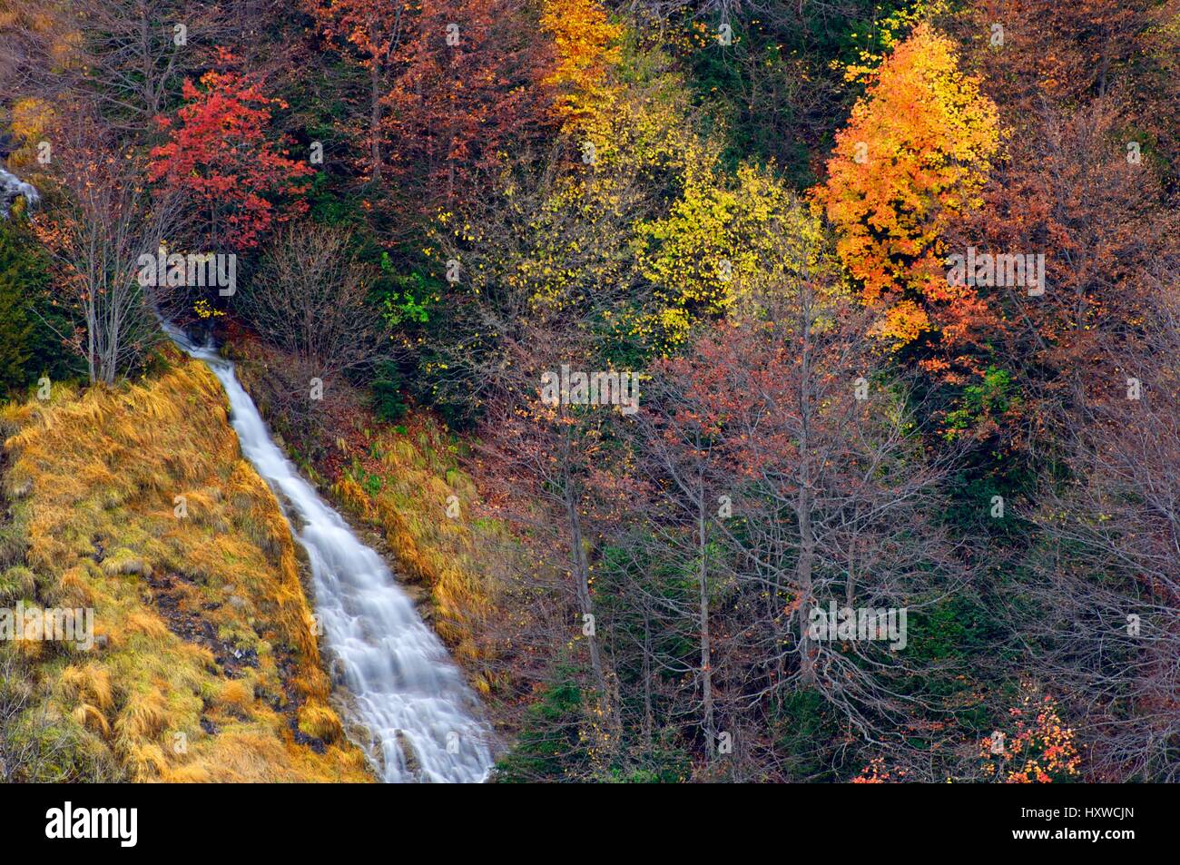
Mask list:
POLYGON ((327 649, 354 697, 355 720, 373 738, 369 753, 380 758, 385 780, 486 779, 491 734, 478 720, 478 701, 385 562, 356 539, 270 439, 234 365, 211 348, 194 346, 176 328, 165 323, 164 329, 222 382, 243 456, 284 503, 312 563, 327 649), (413 760, 404 751, 407 745, 413 760))

